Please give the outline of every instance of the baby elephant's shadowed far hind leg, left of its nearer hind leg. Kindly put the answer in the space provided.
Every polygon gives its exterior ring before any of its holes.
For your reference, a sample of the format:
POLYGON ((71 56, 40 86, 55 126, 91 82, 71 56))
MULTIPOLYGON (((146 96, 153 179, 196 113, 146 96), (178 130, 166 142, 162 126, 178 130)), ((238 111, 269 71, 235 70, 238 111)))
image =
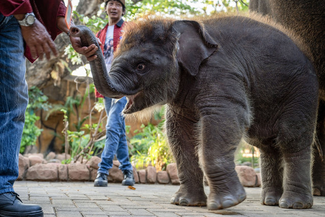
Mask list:
POLYGON ((260 166, 262 177, 262 205, 279 205, 282 191, 282 156, 276 150, 263 151, 260 149, 260 166))

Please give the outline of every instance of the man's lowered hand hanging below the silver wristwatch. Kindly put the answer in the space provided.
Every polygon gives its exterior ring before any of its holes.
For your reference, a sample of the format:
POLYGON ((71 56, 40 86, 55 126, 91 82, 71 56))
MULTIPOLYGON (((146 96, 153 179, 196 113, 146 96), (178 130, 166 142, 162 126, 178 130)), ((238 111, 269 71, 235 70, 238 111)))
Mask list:
POLYGON ((20 27, 22 37, 29 49, 31 49, 33 59, 36 59, 38 56, 42 60, 45 53, 46 59, 49 60, 51 51, 57 56, 55 44, 40 21, 36 19, 33 25, 20 27))

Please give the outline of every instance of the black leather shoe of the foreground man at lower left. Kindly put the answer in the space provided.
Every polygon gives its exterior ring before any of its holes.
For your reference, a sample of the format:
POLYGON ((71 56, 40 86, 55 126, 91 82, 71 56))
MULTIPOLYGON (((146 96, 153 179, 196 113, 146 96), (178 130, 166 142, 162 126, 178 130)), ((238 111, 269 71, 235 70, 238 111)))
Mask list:
POLYGON ((0 194, 0 216, 43 216, 41 206, 37 204, 23 204, 18 196, 15 192, 0 194))

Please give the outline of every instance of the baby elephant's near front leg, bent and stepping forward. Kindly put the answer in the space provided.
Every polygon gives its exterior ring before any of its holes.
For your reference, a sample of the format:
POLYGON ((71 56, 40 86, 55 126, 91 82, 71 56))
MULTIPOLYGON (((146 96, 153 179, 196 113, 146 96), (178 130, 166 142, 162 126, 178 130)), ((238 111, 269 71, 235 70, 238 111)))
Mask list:
MULTIPOLYGON (((229 102, 220 102, 228 104, 229 102)), ((245 122, 242 112, 230 104, 219 111, 203 111, 200 119, 202 140, 199 156, 210 195, 208 209, 223 209, 245 200, 246 193, 235 172, 234 151, 241 141, 245 122)), ((215 108, 215 107, 214 107, 215 108)), ((209 110, 209 108, 208 108, 209 110)))

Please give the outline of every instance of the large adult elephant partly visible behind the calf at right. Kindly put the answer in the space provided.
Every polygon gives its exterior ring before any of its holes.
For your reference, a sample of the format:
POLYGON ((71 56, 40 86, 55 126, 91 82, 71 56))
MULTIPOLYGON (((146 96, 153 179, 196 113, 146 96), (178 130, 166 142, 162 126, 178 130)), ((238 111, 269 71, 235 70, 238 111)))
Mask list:
POLYGON ((318 147, 313 145, 313 194, 325 196, 325 4, 323 0, 251 0, 250 10, 271 15, 308 46, 319 78, 318 147))

